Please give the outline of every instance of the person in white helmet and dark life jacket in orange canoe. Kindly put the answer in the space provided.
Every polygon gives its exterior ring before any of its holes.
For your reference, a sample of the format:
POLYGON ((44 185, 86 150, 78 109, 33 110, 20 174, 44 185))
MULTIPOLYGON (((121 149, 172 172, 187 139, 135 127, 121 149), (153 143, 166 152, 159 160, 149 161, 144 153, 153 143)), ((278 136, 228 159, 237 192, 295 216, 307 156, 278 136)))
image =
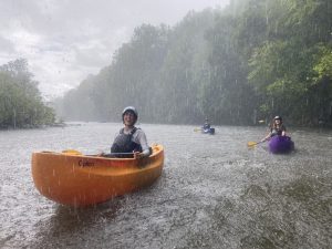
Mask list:
MULTIPOLYGON (((134 106, 127 106, 122 112, 122 121, 124 127, 116 134, 111 147, 111 155, 134 154, 135 158, 146 157, 152 154, 151 147, 147 145, 145 133, 135 127, 138 118, 138 112, 134 106)), ((132 156, 132 155, 131 155, 132 156)))

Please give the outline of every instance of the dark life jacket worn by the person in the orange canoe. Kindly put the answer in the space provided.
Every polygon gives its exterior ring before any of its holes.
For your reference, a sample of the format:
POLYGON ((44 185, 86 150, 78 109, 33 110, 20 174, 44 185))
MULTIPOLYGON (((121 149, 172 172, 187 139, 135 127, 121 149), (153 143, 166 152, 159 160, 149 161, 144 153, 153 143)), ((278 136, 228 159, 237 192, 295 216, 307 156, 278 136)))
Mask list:
POLYGON ((120 134, 115 137, 111 147, 111 153, 142 152, 142 146, 132 141, 136 131, 137 128, 134 127, 129 134, 124 134, 124 128, 120 129, 120 134))

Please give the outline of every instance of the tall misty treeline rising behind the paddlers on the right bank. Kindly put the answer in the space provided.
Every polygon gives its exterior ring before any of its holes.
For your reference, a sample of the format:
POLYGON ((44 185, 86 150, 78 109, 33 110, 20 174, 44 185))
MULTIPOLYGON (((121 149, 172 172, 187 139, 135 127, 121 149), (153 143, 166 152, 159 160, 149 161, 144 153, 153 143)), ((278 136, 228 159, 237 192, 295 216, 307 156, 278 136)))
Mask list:
POLYGON ((136 28, 110 66, 58 101, 62 118, 250 125, 332 122, 331 0, 234 0, 136 28))

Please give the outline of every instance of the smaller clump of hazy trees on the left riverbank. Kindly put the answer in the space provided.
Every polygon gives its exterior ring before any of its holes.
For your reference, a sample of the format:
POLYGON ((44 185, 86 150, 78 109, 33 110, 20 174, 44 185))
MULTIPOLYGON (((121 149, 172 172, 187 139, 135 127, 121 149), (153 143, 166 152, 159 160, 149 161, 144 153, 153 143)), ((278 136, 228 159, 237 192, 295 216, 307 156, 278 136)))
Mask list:
POLYGON ((0 66, 0 128, 50 125, 54 118, 54 110, 42 102, 25 60, 0 66))

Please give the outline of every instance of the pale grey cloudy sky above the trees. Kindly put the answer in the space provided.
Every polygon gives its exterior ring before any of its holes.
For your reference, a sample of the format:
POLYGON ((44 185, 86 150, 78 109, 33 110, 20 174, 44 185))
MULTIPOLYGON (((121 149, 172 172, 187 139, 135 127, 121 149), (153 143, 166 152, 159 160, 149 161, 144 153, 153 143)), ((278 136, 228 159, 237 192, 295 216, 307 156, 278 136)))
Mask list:
POLYGON ((229 0, 0 0, 0 65, 24 58, 46 97, 111 64, 142 23, 174 25, 229 0))

